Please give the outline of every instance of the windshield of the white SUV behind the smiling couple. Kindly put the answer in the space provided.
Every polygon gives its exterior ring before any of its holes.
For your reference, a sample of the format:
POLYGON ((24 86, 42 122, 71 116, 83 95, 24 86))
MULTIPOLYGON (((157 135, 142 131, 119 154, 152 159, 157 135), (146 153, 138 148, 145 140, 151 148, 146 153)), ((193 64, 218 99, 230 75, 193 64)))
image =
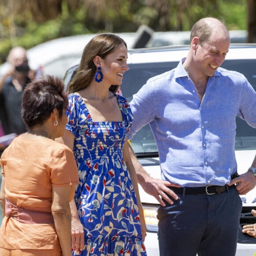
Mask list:
MULTIPOLYGON (((147 79, 161 74, 177 66, 177 62, 147 63, 129 65, 130 70, 124 74, 121 91, 128 101, 132 100, 147 79)), ((222 68, 243 73, 256 89, 255 60, 225 60, 222 68)), ((244 120, 237 117, 236 150, 256 149, 256 129, 250 127, 244 120)), ((132 138, 132 148, 137 156, 158 155, 158 149, 150 126, 147 124, 132 138)))

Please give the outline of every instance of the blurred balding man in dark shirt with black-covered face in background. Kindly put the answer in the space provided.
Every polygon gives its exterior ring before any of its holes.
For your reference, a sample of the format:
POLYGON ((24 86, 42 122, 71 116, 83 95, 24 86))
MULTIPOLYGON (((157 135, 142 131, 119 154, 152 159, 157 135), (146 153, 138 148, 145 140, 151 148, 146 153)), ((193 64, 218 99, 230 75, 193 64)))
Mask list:
POLYGON ((26 132, 21 118, 23 90, 34 79, 35 72, 29 67, 23 47, 12 48, 7 60, 10 66, 0 79, 0 120, 5 135, 19 135, 26 132))

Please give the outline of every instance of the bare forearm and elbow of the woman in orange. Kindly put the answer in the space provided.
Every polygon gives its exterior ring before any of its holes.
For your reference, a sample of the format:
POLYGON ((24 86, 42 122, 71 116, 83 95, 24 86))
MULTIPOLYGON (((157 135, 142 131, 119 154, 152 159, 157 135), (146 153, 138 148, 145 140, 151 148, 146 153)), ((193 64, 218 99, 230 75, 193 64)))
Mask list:
POLYGON ((72 256, 70 193, 71 186, 53 186, 52 214, 56 232, 60 240, 62 256, 72 256))

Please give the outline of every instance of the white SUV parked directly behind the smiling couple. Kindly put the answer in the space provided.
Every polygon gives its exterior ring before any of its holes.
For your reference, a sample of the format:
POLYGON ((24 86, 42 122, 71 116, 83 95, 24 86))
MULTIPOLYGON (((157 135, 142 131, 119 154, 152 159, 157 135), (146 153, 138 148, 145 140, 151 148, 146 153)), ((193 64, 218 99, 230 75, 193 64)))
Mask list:
MULTIPOLYGON (((161 48, 145 48, 129 50, 128 66, 130 70, 124 74, 121 91, 128 101, 147 79, 154 75, 175 68, 181 58, 187 56, 188 46, 169 46, 161 48)), ((78 64, 68 69, 64 77, 67 86, 78 64)), ((256 44, 231 45, 223 68, 243 73, 252 86, 256 89, 256 44)), ((160 178, 158 149, 149 125, 144 126, 132 139, 132 147, 136 152, 139 162, 144 166, 149 175, 160 178)), ((237 118, 237 135, 235 152, 238 164, 238 173, 244 173, 251 166, 256 154, 256 129, 248 126, 245 121, 237 118)), ((147 223, 147 237, 145 246, 148 256, 159 256, 158 250, 158 220, 156 218, 158 201, 148 195, 139 187, 141 201, 147 223)), ((256 209, 256 188, 245 196, 241 196, 243 209, 240 217, 239 235, 237 240, 236 256, 252 256, 256 251, 256 238, 241 232, 242 226, 256 223, 256 218, 251 214, 256 209)))

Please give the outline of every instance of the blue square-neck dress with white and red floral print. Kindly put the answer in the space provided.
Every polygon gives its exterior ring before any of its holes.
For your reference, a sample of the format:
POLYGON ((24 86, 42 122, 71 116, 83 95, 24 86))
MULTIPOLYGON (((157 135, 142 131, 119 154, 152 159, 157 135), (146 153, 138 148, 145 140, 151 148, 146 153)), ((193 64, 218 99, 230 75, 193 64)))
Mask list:
POLYGON ((75 135, 79 169, 75 203, 85 233, 85 248, 73 255, 145 256, 139 210, 123 145, 133 116, 125 98, 117 97, 123 121, 94 122, 83 99, 69 96, 66 129, 75 135))

